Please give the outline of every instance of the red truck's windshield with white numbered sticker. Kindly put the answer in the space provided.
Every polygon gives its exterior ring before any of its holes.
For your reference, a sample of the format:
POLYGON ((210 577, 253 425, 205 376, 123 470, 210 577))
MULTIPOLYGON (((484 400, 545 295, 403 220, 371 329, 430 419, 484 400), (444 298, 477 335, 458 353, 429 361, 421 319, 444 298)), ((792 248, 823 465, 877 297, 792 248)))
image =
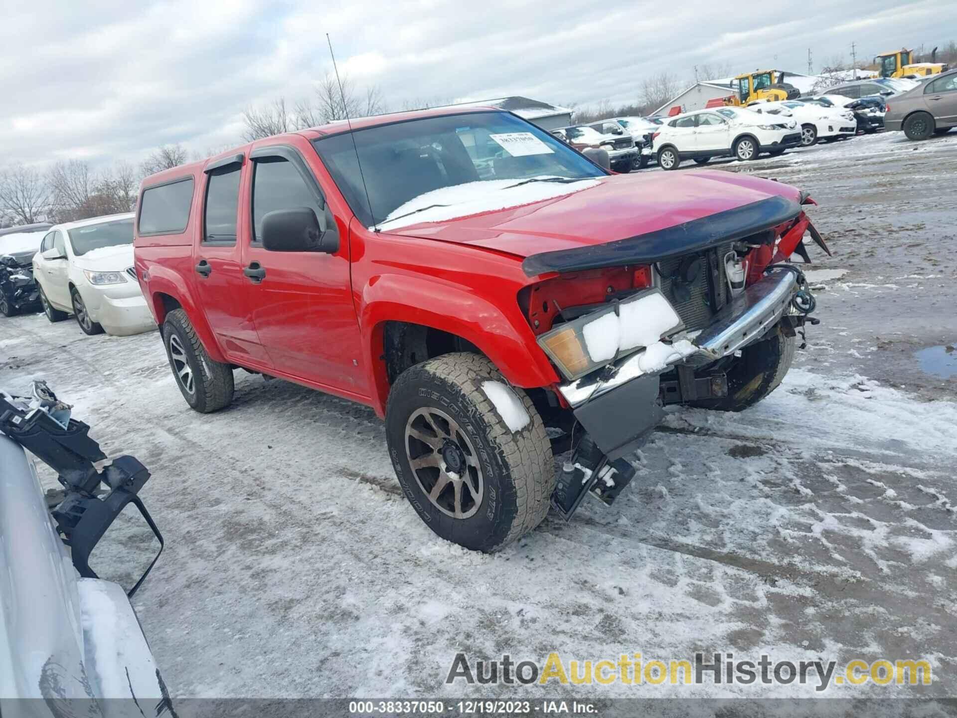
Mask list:
POLYGON ((504 112, 381 124, 358 129, 351 137, 348 132, 321 137, 313 145, 352 212, 367 227, 383 222, 413 198, 444 188, 473 183, 472 191, 482 191, 484 182, 507 188, 534 178, 605 176, 571 147, 504 112))

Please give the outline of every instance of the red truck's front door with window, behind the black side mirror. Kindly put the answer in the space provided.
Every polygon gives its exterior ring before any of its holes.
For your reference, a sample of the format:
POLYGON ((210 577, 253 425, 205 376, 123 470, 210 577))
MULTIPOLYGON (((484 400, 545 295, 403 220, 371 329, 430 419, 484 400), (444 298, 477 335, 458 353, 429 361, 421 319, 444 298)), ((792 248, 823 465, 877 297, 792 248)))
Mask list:
MULTIPOLYGON (((347 221, 325 202, 305 158, 315 150, 263 141, 251 154, 252 216, 243 266, 256 333, 278 371, 353 396, 369 395, 366 362, 349 280, 347 221), (261 242, 266 213, 307 207, 326 232, 340 233, 339 250, 269 252, 261 242)), ((318 157, 315 158, 318 163, 318 157)))

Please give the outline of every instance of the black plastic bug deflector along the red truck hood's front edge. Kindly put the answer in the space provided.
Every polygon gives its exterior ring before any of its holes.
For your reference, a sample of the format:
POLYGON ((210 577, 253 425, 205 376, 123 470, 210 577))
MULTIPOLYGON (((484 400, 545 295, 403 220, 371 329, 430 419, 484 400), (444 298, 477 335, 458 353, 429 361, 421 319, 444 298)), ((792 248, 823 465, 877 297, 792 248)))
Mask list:
POLYGON ((542 252, 524 258, 526 276, 545 272, 578 272, 624 264, 651 264, 662 259, 702 252, 787 222, 801 213, 792 199, 775 195, 733 210, 676 224, 656 232, 605 244, 542 252))

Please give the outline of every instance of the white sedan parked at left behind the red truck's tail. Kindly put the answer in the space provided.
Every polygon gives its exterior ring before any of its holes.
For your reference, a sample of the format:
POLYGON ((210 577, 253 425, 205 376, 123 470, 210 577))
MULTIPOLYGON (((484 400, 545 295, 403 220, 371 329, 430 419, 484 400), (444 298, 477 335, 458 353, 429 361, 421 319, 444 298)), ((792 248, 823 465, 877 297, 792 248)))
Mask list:
POLYGON ((156 328, 133 269, 133 213, 55 225, 33 276, 51 322, 73 314, 87 334, 121 336, 156 328))

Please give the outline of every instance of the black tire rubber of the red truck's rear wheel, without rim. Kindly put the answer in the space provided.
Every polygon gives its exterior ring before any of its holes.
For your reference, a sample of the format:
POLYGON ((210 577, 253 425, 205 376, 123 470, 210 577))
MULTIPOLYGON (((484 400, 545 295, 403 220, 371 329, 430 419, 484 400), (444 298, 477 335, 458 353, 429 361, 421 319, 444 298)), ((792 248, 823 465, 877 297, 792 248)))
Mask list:
POLYGON ((233 368, 229 364, 213 361, 196 336, 186 312, 173 309, 163 322, 163 346, 167 350, 169 368, 180 393, 189 406, 200 414, 210 414, 227 407, 233 401, 233 368), (192 370, 193 392, 183 384, 170 351, 170 337, 175 336, 192 370))

